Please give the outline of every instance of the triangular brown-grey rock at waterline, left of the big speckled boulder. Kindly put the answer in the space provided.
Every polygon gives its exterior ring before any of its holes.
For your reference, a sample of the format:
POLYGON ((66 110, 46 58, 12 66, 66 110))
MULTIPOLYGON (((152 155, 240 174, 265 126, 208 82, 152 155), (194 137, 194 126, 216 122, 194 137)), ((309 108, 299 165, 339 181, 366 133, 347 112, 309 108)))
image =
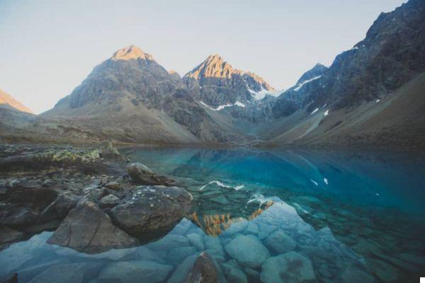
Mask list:
POLYGON ((82 200, 69 212, 47 243, 84 253, 101 253, 111 248, 135 246, 137 240, 115 227, 108 214, 96 204, 82 200))

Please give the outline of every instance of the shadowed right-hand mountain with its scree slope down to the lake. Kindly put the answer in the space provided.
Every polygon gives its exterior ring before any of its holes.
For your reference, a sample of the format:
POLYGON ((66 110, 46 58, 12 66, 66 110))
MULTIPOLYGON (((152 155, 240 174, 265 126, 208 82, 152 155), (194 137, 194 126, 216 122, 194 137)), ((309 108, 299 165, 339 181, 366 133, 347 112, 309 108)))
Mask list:
POLYGON ((410 0, 268 103, 273 124, 257 134, 276 144, 424 146, 424 71, 425 1, 410 0))

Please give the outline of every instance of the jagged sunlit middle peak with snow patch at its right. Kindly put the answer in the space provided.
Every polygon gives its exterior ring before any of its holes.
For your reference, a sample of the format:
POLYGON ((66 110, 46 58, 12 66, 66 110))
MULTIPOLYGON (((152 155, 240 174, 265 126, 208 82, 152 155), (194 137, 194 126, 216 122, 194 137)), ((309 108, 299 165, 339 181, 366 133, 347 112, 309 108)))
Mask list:
POLYGON ((208 56, 183 81, 197 100, 215 110, 231 105, 243 108, 262 93, 274 91, 260 76, 234 69, 218 54, 208 56))

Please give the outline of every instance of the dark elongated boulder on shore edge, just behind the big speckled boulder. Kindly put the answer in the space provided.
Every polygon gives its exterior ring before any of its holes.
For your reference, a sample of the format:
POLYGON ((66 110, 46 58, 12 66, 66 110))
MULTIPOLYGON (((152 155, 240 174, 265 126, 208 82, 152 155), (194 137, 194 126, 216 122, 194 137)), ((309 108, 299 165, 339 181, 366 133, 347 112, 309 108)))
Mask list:
POLYGON ((142 163, 131 163, 127 167, 128 175, 133 182, 140 185, 171 185, 174 180, 154 173, 142 163))

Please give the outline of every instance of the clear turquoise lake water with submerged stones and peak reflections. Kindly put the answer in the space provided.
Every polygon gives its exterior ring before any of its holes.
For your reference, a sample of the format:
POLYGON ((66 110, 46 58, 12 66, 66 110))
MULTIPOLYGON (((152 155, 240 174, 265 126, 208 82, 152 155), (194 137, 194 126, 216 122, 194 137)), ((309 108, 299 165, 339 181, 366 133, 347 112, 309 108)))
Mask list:
POLYGON ((0 276, 18 272, 19 282, 30 282, 50 270, 52 282, 67 272, 78 275, 74 282, 181 282, 202 250, 220 266, 223 282, 418 282, 425 276, 421 154, 121 151, 187 187, 191 214, 158 241, 98 255, 48 245, 52 232, 44 232, 1 251, 0 276))

